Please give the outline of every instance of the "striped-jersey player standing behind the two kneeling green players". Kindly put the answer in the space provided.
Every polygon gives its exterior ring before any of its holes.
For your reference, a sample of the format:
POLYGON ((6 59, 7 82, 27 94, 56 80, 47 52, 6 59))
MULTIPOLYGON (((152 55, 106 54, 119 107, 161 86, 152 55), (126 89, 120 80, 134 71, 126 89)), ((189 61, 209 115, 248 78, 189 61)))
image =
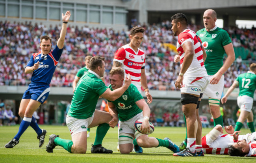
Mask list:
POLYGON ((145 74, 145 53, 139 49, 141 42, 143 41, 143 33, 145 29, 143 27, 133 27, 130 31, 130 43, 122 46, 115 52, 113 60, 113 68, 121 67, 125 70, 125 74, 131 75, 132 84, 134 84, 139 92, 141 92, 141 86, 147 96, 147 102, 152 102, 152 96, 149 93, 147 78, 145 74))

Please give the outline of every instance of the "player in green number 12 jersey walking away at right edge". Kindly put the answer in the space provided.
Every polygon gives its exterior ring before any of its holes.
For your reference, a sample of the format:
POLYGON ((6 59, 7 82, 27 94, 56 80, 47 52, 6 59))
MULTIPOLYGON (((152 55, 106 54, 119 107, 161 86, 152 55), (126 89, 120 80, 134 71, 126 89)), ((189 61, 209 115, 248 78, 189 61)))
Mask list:
POLYGON ((250 64, 250 71, 247 73, 240 74, 236 80, 233 82, 232 86, 228 88, 228 91, 222 97, 221 103, 226 103, 230 93, 239 86, 239 95, 237 97, 237 105, 241 109, 241 113, 236 122, 235 131, 240 131, 243 127, 245 119, 247 119, 247 125, 250 128, 251 132, 255 132, 253 124, 253 113, 252 113, 252 104, 253 96, 256 89, 256 63, 250 64))

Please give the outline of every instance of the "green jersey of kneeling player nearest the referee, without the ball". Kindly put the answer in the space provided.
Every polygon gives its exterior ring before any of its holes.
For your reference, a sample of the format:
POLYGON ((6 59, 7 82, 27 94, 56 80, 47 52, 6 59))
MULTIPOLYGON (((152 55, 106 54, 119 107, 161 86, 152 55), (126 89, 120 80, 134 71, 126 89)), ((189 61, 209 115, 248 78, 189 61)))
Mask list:
POLYGON ((77 119, 87 119, 93 115, 98 98, 108 88, 95 74, 89 70, 79 80, 67 115, 77 119))

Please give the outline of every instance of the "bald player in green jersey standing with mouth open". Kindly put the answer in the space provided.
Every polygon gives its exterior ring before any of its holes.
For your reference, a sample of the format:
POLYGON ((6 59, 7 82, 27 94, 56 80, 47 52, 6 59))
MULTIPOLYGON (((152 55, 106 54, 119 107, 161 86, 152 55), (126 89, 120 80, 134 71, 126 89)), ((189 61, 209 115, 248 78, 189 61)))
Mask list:
MULTIPOLYGON (((202 40, 202 45, 207 54, 204 65, 210 78, 210 84, 206 87, 204 95, 209 98, 210 112, 213 117, 214 126, 223 126, 223 118, 219 106, 224 87, 223 74, 234 62, 235 52, 228 33, 215 25, 216 20, 217 13, 212 9, 206 10, 203 15, 204 28, 197 31, 197 35, 202 40), (224 53, 226 53, 227 58, 223 64, 224 53)), ((175 58, 177 57, 178 55, 175 56, 175 58)), ((197 106, 198 108, 199 105, 197 106)), ((180 145, 180 150, 186 148, 186 141, 187 136, 180 145)))

